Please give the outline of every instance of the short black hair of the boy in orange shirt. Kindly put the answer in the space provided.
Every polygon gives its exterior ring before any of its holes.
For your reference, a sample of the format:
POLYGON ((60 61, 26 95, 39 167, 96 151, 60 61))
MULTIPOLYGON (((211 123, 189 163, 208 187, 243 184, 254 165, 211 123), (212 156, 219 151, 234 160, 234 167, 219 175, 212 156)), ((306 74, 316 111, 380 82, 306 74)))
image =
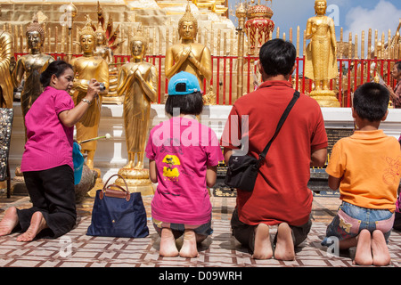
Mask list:
POLYGON ((389 108, 389 90, 378 83, 365 83, 356 89, 353 107, 360 118, 380 121, 389 108))

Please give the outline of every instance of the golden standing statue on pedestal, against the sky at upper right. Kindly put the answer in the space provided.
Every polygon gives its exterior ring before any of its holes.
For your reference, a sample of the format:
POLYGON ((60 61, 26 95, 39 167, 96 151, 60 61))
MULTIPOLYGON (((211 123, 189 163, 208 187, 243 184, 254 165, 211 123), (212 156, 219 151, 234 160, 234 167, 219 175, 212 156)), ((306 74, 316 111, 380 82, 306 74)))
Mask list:
POLYGON ((334 21, 325 15, 326 0, 315 0, 315 16, 307 20, 307 57, 305 76, 315 81, 310 96, 322 107, 340 107, 330 90, 330 79, 337 77, 337 41, 334 21))

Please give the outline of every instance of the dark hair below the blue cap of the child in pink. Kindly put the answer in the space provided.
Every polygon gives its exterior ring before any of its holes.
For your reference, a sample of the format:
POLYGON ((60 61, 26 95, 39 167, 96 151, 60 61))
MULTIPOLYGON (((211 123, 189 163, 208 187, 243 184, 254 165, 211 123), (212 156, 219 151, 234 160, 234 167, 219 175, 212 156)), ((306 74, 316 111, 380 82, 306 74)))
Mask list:
POLYGON ((165 110, 173 116, 177 115, 174 109, 179 109, 179 114, 200 115, 203 110, 203 98, 201 92, 186 95, 168 95, 165 110))

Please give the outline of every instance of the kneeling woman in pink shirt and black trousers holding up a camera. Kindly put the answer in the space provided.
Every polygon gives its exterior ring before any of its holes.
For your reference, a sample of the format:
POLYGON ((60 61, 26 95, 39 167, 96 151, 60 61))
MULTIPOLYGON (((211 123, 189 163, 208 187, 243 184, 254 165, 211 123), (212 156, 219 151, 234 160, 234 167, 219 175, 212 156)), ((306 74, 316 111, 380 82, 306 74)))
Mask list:
POLYGON ((20 167, 33 205, 8 208, 0 236, 20 231, 18 241, 57 238, 76 223, 74 125, 99 94, 100 83, 92 79, 86 100, 74 106, 69 94, 73 80, 72 67, 65 61, 53 61, 40 76, 44 92, 25 116, 28 140, 20 167))

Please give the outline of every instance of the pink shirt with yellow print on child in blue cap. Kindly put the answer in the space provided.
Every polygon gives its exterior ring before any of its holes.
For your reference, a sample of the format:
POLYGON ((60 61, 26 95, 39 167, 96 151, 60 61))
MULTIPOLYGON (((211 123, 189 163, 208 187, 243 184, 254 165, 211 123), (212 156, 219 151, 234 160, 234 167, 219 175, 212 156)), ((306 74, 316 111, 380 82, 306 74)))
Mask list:
POLYGON ((146 157, 155 160, 159 182, 151 216, 166 223, 208 223, 206 170, 224 159, 216 134, 196 119, 174 117, 151 130, 146 157))

